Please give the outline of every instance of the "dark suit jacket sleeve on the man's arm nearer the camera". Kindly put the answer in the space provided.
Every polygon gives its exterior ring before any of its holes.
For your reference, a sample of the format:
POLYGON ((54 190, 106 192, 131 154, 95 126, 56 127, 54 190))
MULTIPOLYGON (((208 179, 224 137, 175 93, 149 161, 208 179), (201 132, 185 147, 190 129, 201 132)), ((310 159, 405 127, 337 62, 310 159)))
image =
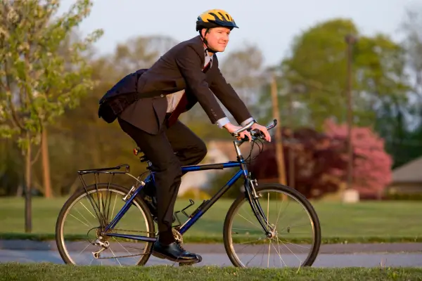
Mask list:
POLYGON ((217 98, 215 98, 210 86, 205 81, 200 54, 192 46, 186 46, 178 53, 176 63, 181 76, 186 81, 186 87, 196 96, 198 103, 203 107, 211 122, 215 124, 218 119, 226 117, 222 107, 219 106, 217 98))

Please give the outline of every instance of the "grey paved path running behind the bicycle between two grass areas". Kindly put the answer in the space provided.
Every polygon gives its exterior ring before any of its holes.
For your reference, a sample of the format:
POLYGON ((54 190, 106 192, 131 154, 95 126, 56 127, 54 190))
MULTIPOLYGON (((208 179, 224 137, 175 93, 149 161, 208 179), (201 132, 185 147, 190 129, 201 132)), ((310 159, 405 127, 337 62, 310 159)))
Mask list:
MULTIPOLYGON (((226 256, 222 244, 186 244, 188 251, 197 252, 203 256, 203 261, 196 266, 232 266, 226 256)), ((117 253, 116 253, 117 254, 117 253)), ((246 254, 245 258, 251 258, 246 254)), ((91 256, 87 255, 88 259, 91 256)), ((114 260, 104 260, 115 263, 114 260)), ((133 261, 133 260, 132 260, 133 261)), ((283 262, 297 261, 295 256, 283 256, 283 262)), ((0 240, 0 263, 63 263, 54 242, 33 242, 0 240)), ((121 261, 123 263, 123 261, 121 261)), ((271 261, 272 263, 272 261, 271 261)), ((275 265, 281 261, 274 260, 275 265)), ((154 256, 148 260, 146 266, 158 264, 172 265, 174 263, 154 256)), ((253 263, 254 266, 266 266, 267 261, 253 263), (262 262, 262 264, 261 264, 262 262)), ((422 266, 422 243, 404 244, 326 244, 321 245, 319 256, 314 267, 342 268, 349 266, 378 267, 378 266, 422 266)))

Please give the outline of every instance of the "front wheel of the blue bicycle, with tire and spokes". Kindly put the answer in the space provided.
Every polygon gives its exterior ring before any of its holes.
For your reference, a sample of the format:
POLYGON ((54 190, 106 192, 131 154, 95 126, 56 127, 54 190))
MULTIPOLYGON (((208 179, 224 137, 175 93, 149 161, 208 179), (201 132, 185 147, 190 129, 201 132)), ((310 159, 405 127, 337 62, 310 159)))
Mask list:
POLYGON ((224 221, 224 247, 231 263, 243 268, 312 266, 321 244, 312 204, 285 185, 258 185, 255 190, 273 237, 267 237, 248 199, 241 195, 224 221))

